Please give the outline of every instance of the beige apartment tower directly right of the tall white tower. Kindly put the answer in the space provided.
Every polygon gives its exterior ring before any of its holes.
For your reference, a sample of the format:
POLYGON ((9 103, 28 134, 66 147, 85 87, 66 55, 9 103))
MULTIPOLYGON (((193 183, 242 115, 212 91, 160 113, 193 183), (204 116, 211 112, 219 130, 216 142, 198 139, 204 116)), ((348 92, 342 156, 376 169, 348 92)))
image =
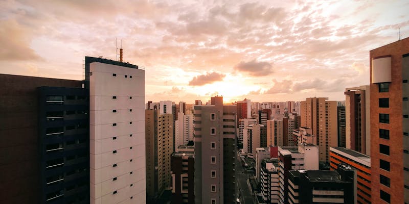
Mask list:
POLYGON ((146 195, 152 202, 170 187, 170 156, 173 149, 173 115, 145 110, 146 195))

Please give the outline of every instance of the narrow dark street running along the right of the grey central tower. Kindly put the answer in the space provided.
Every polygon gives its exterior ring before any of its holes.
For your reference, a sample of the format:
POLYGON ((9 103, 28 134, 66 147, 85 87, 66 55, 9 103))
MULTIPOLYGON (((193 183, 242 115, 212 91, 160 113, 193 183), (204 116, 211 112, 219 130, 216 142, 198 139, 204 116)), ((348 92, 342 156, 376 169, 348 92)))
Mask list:
POLYGON ((247 179, 252 173, 246 173, 243 166, 241 166, 240 154, 236 154, 236 195, 240 195, 240 203, 252 204, 255 203, 254 196, 252 195, 251 189, 248 188, 247 179), (243 173, 244 172, 244 173, 243 173), (240 193, 239 193, 240 191, 240 193))

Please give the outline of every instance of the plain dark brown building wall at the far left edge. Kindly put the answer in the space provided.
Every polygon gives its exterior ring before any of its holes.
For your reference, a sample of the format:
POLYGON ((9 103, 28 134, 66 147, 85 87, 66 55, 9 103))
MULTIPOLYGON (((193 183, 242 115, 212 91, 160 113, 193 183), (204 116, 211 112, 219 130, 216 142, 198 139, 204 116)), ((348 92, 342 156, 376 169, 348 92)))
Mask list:
POLYGON ((0 74, 0 203, 39 202, 40 86, 81 87, 81 81, 0 74), (5 137, 7 136, 7 137, 5 137), (24 167, 24 168, 21 168, 24 167))

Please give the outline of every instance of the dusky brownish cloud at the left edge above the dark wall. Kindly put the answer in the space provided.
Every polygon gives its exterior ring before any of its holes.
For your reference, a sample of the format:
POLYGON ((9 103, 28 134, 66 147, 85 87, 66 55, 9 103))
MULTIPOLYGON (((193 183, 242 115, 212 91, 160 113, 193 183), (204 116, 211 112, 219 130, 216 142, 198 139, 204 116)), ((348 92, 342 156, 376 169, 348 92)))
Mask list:
POLYGON ((0 60, 40 60, 41 57, 30 47, 28 33, 15 20, 0 21, 0 60))

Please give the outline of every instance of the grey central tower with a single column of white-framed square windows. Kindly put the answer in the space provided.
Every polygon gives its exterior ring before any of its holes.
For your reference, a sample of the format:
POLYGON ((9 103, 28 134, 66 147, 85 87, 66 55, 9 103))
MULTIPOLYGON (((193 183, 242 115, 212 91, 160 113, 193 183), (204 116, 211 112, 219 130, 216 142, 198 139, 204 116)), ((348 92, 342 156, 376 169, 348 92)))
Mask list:
POLYGON ((194 117, 195 203, 233 203, 237 106, 215 96, 210 106, 195 106, 194 117))

